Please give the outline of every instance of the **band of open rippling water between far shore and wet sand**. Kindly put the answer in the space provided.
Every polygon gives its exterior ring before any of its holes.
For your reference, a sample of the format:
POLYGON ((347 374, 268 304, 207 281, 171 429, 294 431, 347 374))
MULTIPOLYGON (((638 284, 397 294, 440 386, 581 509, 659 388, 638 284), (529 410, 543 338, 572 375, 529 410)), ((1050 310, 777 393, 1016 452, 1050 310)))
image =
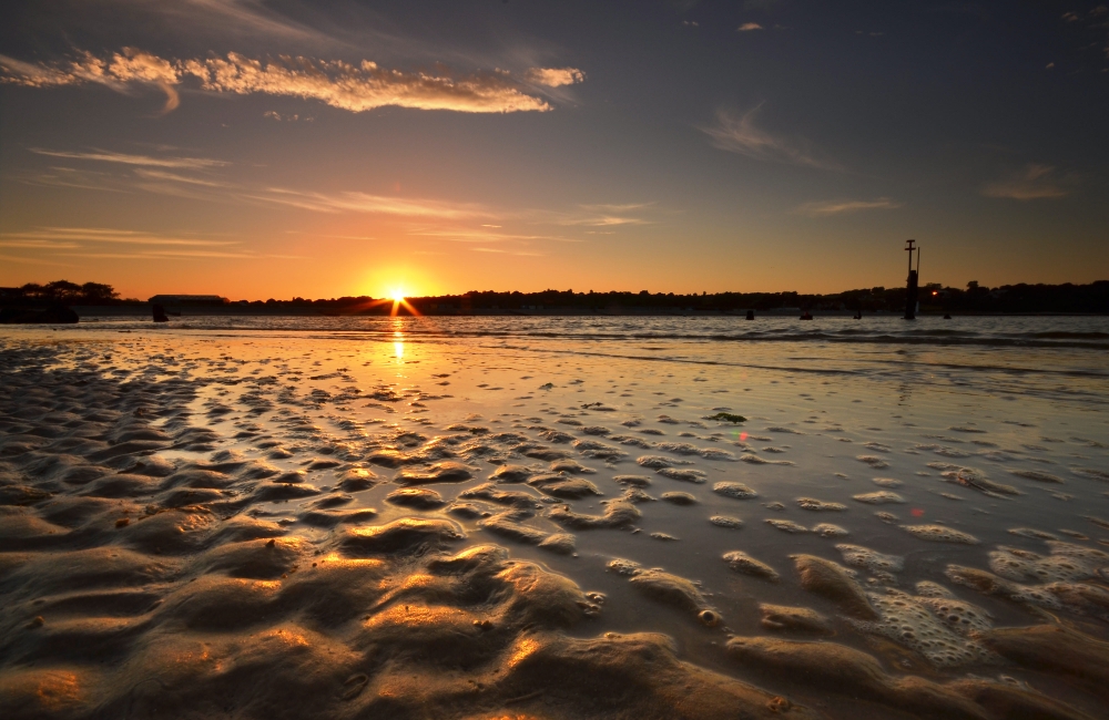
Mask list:
MULTIPOLYGON (((145 331, 151 337, 288 337, 568 352, 671 363, 844 374, 960 387, 999 398, 1035 394, 1099 405, 1109 379, 1109 318, 979 317, 195 317, 166 326, 89 318, 58 332, 145 331)), ((18 332, 18 330, 17 330, 18 332)), ((62 336, 64 337, 64 336, 62 336)))

